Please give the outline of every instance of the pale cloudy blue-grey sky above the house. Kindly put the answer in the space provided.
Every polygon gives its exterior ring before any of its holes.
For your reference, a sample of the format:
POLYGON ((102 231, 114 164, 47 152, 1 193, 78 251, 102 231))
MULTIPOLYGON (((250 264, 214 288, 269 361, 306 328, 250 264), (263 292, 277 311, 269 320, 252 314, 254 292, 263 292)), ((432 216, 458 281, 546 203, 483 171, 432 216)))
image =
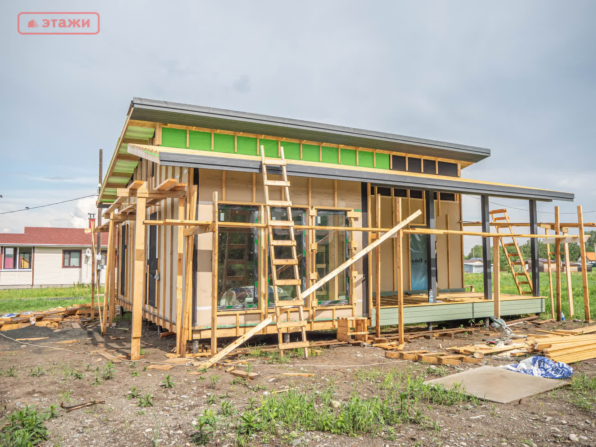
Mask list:
POLYGON ((0 232, 86 226, 93 197, 6 212, 96 193, 133 97, 487 147, 462 176, 574 193, 539 221, 596 221, 595 2, 104 0, 97 35, 17 32, 81 5, 0 4, 0 232))

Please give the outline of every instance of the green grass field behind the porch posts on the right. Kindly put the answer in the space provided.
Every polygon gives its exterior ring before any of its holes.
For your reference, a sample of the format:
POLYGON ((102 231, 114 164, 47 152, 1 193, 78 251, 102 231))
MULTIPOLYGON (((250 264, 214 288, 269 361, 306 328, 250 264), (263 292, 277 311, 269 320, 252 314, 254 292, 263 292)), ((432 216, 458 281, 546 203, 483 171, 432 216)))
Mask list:
MULTIPOLYGON (((482 284, 482 273, 466 273, 464 276, 465 285, 473 284, 477 292, 484 291, 482 284)), ((573 318, 585 319, 583 312, 583 285, 581 272, 572 272, 571 283, 573 290, 573 308, 575 315, 573 318)), ((596 272, 588 272, 588 291, 590 296, 590 313, 596 315, 596 272)), ((516 284, 513 282, 513 275, 510 273, 501 273, 501 293, 518 294, 516 284)), ((551 318, 551 301, 548 291, 548 273, 540 274, 540 294, 546 297, 544 300, 546 311, 541 314, 542 318, 551 318)), ((557 308, 557 285, 555 274, 552 274, 552 294, 557 308)), ((567 297, 567 276, 561 274, 561 309, 565 318, 569 318, 569 298, 567 297)))

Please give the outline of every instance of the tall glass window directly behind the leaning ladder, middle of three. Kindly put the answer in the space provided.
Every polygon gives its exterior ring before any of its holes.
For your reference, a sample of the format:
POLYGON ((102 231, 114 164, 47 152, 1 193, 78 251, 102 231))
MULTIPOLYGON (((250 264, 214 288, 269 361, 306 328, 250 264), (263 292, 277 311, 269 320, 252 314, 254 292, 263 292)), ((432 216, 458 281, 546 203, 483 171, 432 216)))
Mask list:
MULTIPOLYGON (((273 221, 287 221, 288 210, 282 207, 271 208, 271 219, 273 221)), ((303 209, 292 209, 292 220, 295 225, 305 225, 306 212, 303 209)), ((290 229, 288 228, 272 228, 274 240, 289 240, 290 229)), ((298 276, 294 272, 293 265, 276 265, 275 273, 278 280, 293 280, 300 279, 302 281, 302 290, 306 285, 306 231, 294 229, 294 239, 296 240, 296 257, 298 259, 298 276)), ((276 259, 291 259, 293 258, 292 248, 289 246, 276 246, 275 258, 276 259)), ((272 307, 275 305, 274 289, 271 285, 272 271, 271 271, 271 257, 268 257, 269 266, 269 287, 268 287, 268 306, 272 307)), ((296 298, 296 286, 295 285, 280 285, 277 287, 278 299, 279 300, 293 300, 296 298)))

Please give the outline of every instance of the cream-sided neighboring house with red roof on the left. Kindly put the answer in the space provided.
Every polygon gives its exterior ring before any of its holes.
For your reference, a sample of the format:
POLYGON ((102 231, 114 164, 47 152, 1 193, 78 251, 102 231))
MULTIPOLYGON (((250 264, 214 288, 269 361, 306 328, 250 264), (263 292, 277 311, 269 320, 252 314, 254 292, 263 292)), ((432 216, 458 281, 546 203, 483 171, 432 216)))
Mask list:
MULTIPOLYGON (((107 246, 107 237, 103 239, 102 246, 107 246)), ((0 288, 89 284, 92 264, 87 249, 91 234, 84 228, 26 226, 24 233, 0 233, 0 288)), ((101 252, 102 265, 106 253, 101 252)))

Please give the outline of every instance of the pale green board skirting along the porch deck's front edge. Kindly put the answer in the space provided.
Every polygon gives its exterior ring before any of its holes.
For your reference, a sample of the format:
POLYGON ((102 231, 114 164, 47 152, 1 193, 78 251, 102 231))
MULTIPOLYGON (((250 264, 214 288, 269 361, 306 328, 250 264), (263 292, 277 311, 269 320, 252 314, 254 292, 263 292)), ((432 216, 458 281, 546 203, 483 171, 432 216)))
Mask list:
MULTIPOLYGON (((501 300, 501 316, 521 313, 544 312, 544 298, 501 300)), ((375 325, 375 309, 372 309, 372 325, 375 325)), ((495 315, 491 300, 473 303, 445 303, 421 306, 404 306, 403 323, 426 323, 450 319, 479 319, 495 315)), ((381 308, 381 325, 398 324, 398 308, 381 308)))

